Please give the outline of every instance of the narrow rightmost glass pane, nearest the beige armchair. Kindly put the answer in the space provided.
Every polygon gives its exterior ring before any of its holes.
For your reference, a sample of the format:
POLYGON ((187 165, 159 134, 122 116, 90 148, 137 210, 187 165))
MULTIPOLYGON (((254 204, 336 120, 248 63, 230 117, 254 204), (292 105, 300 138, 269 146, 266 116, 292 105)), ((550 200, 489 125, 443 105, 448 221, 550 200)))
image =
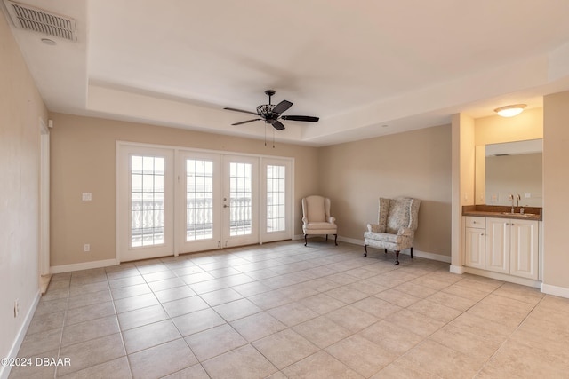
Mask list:
POLYGON ((267 233, 285 229, 284 166, 267 166, 267 233))

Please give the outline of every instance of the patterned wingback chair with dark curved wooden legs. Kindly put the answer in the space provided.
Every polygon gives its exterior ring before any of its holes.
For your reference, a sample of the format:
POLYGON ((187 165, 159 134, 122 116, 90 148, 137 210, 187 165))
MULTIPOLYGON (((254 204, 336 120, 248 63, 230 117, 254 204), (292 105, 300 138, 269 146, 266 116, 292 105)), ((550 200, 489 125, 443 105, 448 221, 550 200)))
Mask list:
POLYGON ((380 198, 377 224, 368 224, 364 233, 364 257, 367 247, 395 251, 395 264, 399 265, 399 251, 411 249, 413 258, 413 240, 418 226, 418 214, 421 200, 410 197, 397 199, 380 198))

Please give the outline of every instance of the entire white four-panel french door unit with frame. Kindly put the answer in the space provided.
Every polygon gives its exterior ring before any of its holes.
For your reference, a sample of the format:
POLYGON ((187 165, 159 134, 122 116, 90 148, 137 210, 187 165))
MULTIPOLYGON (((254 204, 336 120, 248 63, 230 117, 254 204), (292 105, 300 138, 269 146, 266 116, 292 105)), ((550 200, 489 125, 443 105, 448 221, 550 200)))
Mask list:
POLYGON ((292 238, 290 159, 117 143, 120 261, 292 238))

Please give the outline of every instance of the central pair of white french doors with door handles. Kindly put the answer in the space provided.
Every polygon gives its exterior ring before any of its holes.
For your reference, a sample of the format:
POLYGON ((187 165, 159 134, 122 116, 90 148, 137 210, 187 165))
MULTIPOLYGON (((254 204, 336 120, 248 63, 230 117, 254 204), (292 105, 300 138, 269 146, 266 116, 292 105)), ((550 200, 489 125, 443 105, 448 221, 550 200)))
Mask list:
POLYGON ((180 153, 179 253, 259 241, 258 159, 180 153))

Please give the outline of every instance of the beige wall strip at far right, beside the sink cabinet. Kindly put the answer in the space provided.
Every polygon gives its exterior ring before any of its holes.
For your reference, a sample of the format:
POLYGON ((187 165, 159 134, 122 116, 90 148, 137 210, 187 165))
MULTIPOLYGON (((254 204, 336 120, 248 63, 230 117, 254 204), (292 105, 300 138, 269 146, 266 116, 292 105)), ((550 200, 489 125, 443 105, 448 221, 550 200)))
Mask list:
POLYGON ((543 110, 543 284, 569 297, 569 91, 546 96, 543 110))

